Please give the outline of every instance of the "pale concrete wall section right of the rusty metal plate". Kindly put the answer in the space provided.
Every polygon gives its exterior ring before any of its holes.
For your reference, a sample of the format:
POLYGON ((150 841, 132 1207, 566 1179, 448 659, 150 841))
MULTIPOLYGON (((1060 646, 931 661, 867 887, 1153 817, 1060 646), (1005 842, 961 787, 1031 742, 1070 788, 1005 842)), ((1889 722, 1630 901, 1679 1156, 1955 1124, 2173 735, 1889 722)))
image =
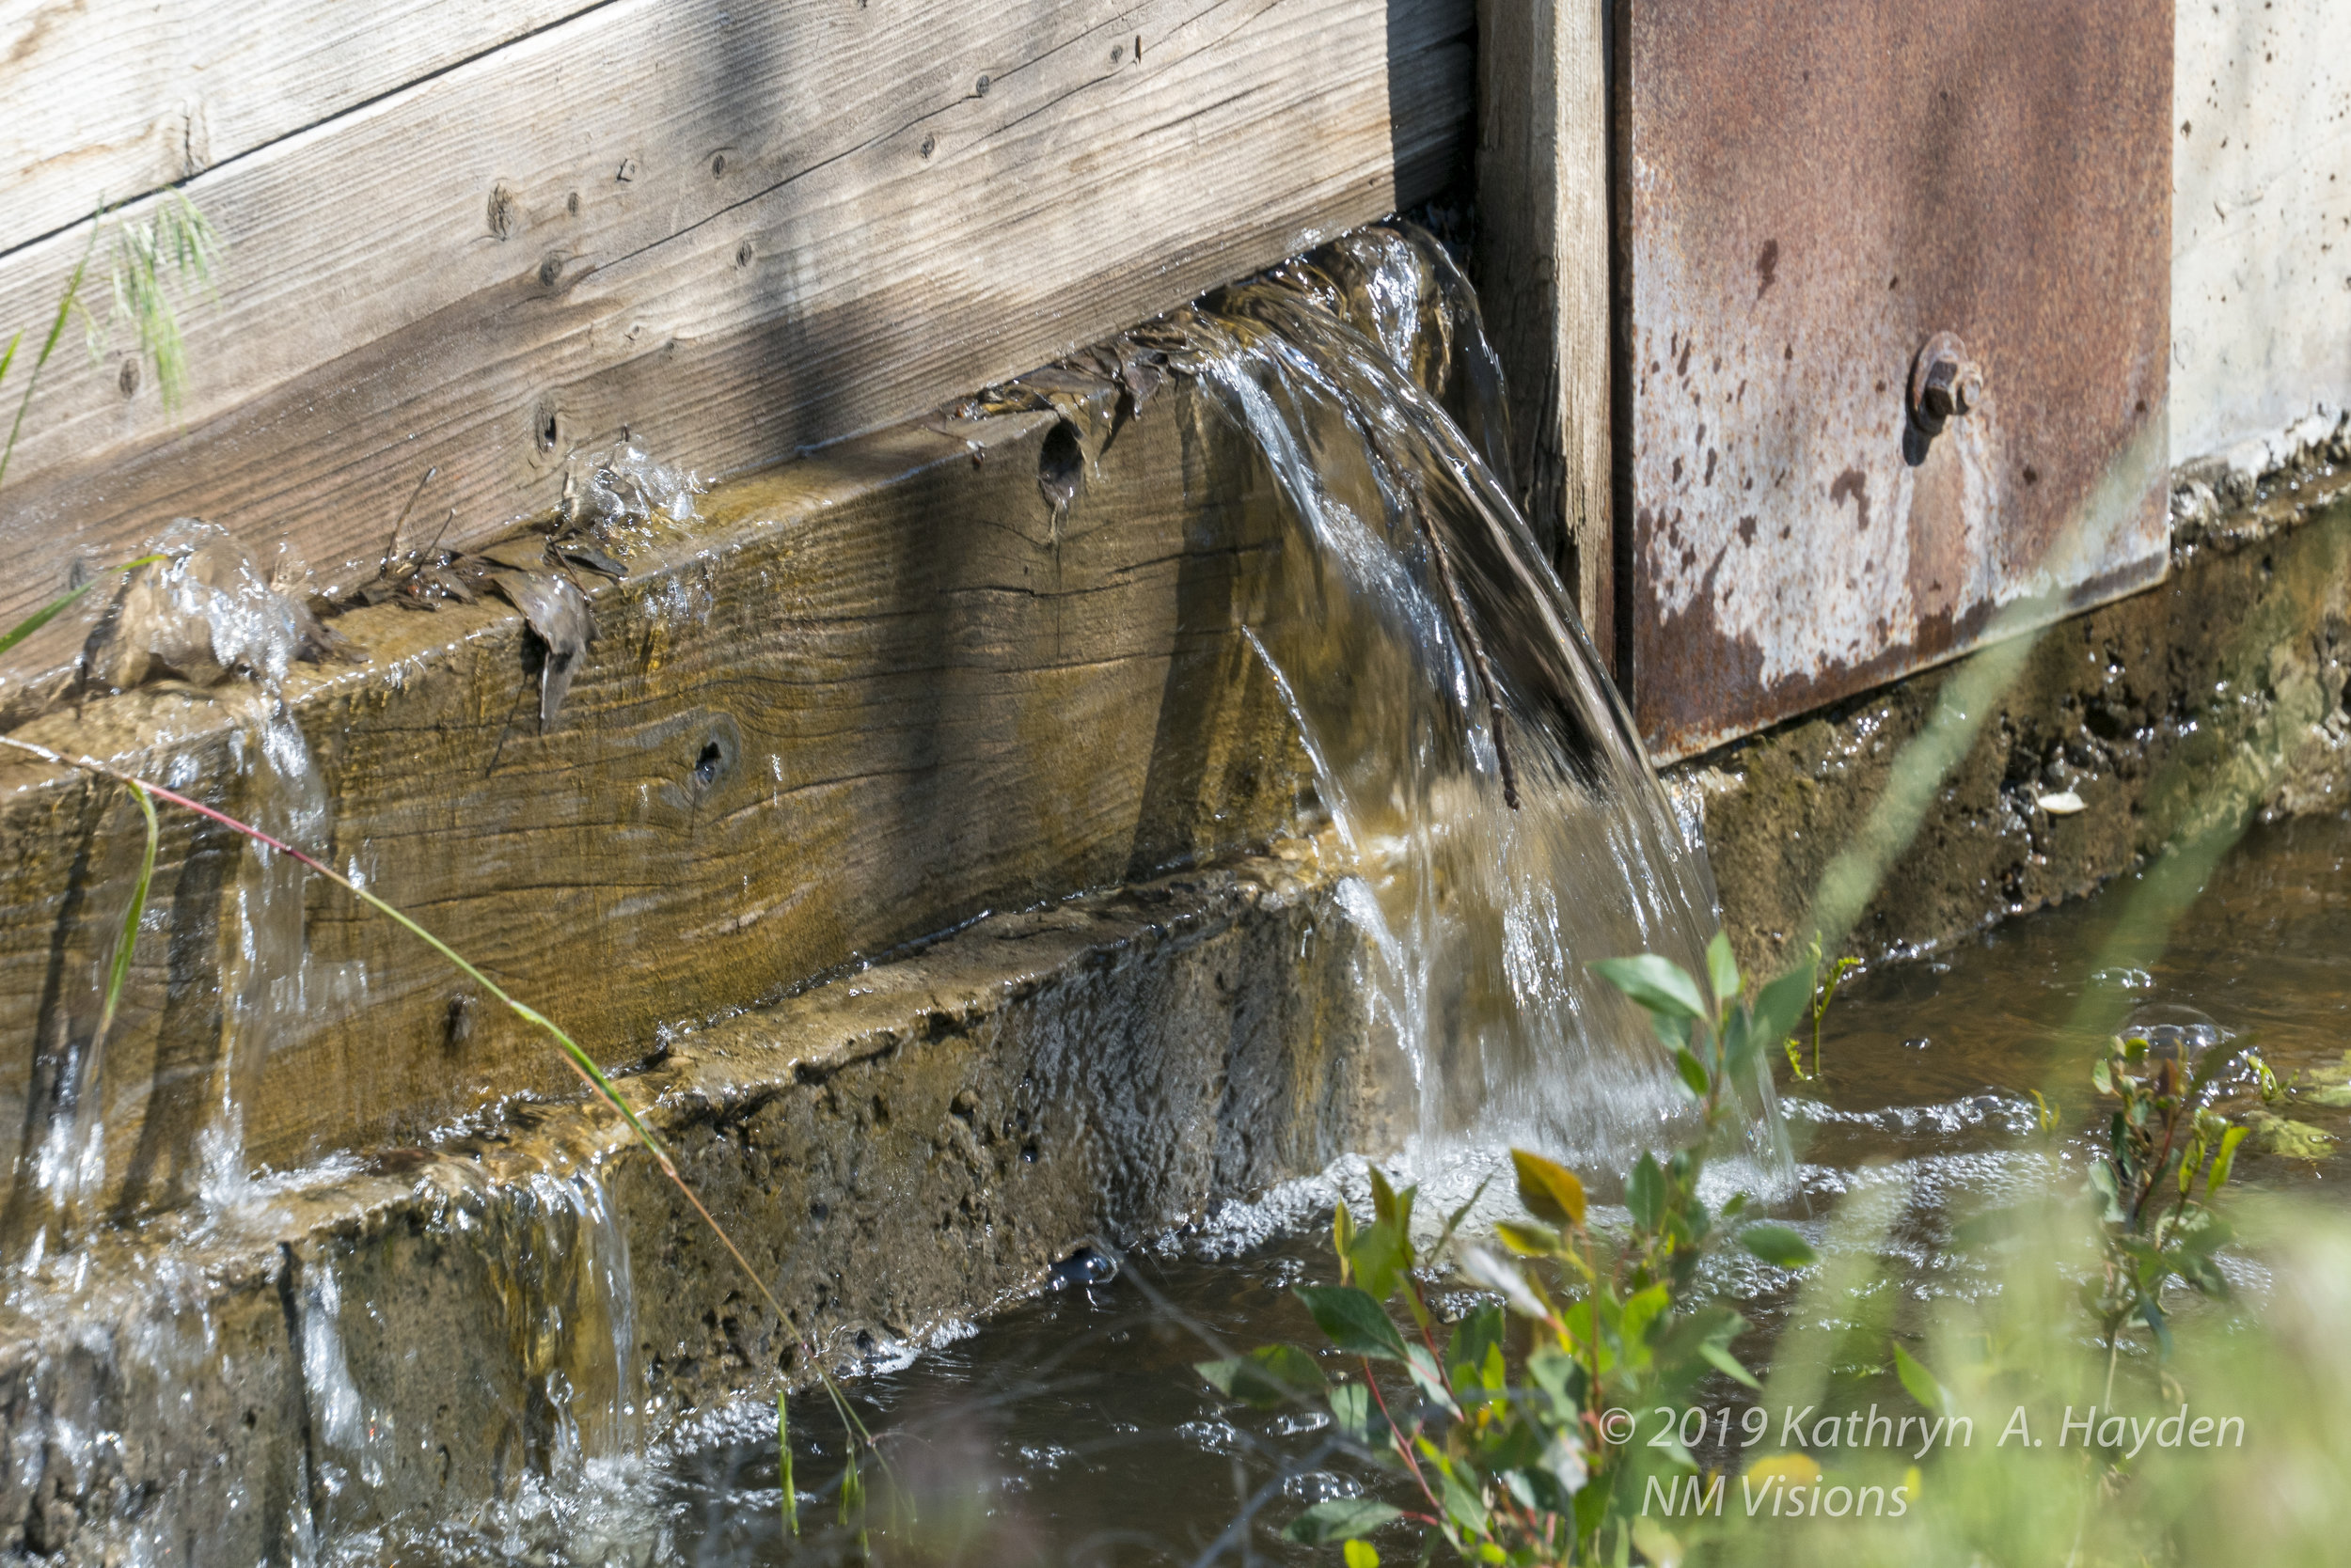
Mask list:
POLYGON ((2179 0, 2172 463, 2276 468, 2351 404, 2351 49, 2342 0, 2179 0))

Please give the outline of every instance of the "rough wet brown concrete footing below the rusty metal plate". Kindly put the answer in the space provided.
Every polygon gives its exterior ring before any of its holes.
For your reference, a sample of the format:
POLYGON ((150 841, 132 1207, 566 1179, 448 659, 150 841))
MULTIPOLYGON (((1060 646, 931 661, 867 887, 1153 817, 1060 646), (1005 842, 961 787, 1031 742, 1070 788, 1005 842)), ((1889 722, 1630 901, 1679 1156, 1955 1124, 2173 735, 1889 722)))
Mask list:
MULTIPOLYGON (((2036 635, 1848 952, 1935 947, 2215 827, 2351 806, 2342 435, 2313 433, 2259 470, 2208 463, 2175 477, 2170 576, 2036 635)), ((1897 771, 1916 766, 1911 743, 1972 658, 1669 771, 1702 813, 1742 961, 1782 964, 1810 940, 1822 875, 1897 771)))

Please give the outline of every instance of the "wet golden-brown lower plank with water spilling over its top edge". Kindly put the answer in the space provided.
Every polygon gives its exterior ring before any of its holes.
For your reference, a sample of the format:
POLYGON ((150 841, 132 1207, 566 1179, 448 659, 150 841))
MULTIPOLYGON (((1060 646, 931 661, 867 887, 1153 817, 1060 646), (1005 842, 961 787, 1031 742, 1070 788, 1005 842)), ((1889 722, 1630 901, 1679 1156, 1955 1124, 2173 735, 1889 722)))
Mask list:
MULTIPOLYGON (((1265 842, 1310 773, 1234 630, 1279 531, 1253 451, 1161 393, 1056 522, 1051 425, 983 421, 978 463, 898 428, 712 496, 708 527, 597 592, 602 637, 548 733, 515 611, 346 616, 369 661, 289 689, 327 860, 623 1065, 985 910, 1265 842)), ((254 811, 247 719, 219 698, 150 686, 21 733, 153 748, 148 769, 254 811)), ((139 844, 120 790, 0 766, 0 1126, 24 1150, 94 1023, 139 844)), ((233 1018, 249 872, 226 830, 169 820, 108 1044, 120 1208, 188 1192, 230 1046, 270 1164, 567 1088, 543 1037, 317 882, 301 1006, 233 1018)))

